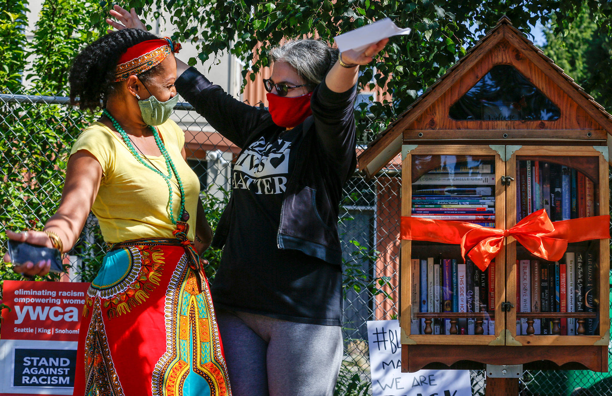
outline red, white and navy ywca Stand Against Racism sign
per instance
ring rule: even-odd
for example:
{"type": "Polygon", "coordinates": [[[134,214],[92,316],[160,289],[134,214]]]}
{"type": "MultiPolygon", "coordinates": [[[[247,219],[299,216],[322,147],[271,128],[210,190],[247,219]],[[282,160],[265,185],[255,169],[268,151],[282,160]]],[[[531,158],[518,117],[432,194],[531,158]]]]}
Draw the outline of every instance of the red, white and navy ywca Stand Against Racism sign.
{"type": "Polygon", "coordinates": [[[72,395],[89,283],[4,281],[0,396],[72,395]]]}

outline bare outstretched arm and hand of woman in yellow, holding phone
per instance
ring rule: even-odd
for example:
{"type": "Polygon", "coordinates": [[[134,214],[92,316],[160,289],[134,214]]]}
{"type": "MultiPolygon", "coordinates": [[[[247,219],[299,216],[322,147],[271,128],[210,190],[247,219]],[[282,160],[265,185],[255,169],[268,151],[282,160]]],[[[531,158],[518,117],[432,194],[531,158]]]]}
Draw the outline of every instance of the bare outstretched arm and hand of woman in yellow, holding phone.
{"type": "MultiPolygon", "coordinates": [[[[81,234],[95,196],[98,194],[101,179],[102,166],[88,151],[81,150],[70,156],[62,199],[58,210],[45,223],[44,228],[45,231],[53,231],[59,236],[64,245],[62,253],[68,252],[81,234]]],[[[44,231],[14,233],[7,230],[6,234],[14,241],[53,247],[51,239],[44,231]]],[[[4,262],[10,262],[8,255],[4,255],[4,262]]],[[[49,264],[48,261],[24,263],[15,266],[13,270],[26,275],[45,275],[49,272],[49,264]]]]}

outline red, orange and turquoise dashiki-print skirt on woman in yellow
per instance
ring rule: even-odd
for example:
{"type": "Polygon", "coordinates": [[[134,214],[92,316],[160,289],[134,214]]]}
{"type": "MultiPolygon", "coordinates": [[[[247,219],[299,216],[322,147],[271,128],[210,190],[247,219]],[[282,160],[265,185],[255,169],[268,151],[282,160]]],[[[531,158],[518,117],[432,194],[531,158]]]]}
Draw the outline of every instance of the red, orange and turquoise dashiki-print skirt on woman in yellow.
{"type": "Polygon", "coordinates": [[[230,396],[208,282],[172,239],[115,245],[88,291],[74,395],[230,396]]]}

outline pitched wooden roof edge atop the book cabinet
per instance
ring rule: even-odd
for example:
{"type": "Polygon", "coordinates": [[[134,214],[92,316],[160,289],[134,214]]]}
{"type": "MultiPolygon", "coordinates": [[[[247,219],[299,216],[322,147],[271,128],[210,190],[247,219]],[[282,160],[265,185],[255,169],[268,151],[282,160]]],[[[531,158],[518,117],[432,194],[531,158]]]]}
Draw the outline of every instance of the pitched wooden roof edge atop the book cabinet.
{"type": "Polygon", "coordinates": [[[463,58],[447,70],[442,77],[420,95],[409,108],[392,122],[386,130],[381,132],[368,148],[358,157],[359,170],[364,171],[368,177],[373,176],[401,151],[402,133],[409,125],[424,113],[436,99],[441,97],[453,84],[457,83],[480,59],[489,53],[501,40],[507,40],[517,48],[526,58],[550,77],[559,88],[576,102],[580,108],[600,124],[608,132],[608,142],[612,143],[612,115],[603,106],[595,102],[591,95],[584,90],[563,69],[554,64],[540,48],[535,47],[527,37],[512,26],[505,15],[498,24],[485,34],[474,47],[470,48],[463,58]],[[559,78],[561,77],[561,78],[559,78]]]}

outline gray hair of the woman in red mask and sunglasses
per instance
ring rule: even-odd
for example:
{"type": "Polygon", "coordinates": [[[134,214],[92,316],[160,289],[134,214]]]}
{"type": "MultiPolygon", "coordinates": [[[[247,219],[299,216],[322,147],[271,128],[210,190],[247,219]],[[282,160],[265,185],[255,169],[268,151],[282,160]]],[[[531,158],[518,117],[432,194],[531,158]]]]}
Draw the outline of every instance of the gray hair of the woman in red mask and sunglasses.
{"type": "Polygon", "coordinates": [[[272,62],[287,62],[313,87],[323,81],[337,59],[338,49],[330,48],[323,40],[293,40],[270,50],[272,62]]]}

